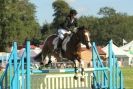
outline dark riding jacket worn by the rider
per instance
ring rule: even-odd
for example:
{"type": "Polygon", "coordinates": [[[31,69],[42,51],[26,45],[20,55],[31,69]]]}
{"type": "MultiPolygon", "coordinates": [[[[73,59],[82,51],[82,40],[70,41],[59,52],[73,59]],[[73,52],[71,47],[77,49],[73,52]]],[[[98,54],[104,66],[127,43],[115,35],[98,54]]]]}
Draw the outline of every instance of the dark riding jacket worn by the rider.
{"type": "Polygon", "coordinates": [[[77,19],[76,18],[71,19],[71,17],[68,15],[66,17],[65,22],[62,25],[62,28],[66,30],[71,30],[75,27],[78,27],[77,19]]]}

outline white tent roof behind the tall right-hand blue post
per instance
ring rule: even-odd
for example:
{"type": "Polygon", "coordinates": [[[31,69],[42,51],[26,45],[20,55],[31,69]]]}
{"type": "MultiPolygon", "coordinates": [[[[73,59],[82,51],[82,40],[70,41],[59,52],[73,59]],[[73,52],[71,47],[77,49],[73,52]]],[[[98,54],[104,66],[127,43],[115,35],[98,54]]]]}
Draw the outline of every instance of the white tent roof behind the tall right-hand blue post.
{"type": "MultiPolygon", "coordinates": [[[[108,45],[105,46],[104,48],[102,48],[102,50],[107,54],[108,56],[108,45]]],[[[130,54],[126,53],[125,51],[123,51],[122,49],[120,49],[119,47],[117,47],[116,45],[112,44],[112,50],[114,52],[114,54],[116,56],[127,56],[130,57],[130,54]]]]}

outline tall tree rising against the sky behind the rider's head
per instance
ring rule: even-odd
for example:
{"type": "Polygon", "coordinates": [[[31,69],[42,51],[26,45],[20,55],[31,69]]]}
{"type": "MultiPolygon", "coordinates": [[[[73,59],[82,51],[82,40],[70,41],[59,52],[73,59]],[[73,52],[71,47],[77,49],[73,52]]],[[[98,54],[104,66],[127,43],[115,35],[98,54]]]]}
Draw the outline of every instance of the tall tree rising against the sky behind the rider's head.
{"type": "Polygon", "coordinates": [[[68,15],[70,6],[64,0],[56,0],[52,6],[54,9],[53,26],[58,28],[64,22],[66,15],[68,15]]]}

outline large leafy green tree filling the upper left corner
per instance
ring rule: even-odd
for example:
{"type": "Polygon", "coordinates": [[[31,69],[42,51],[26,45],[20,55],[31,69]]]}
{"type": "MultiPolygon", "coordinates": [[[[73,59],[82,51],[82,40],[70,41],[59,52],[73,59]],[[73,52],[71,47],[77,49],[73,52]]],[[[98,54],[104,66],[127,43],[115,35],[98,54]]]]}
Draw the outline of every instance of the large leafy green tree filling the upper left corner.
{"type": "Polygon", "coordinates": [[[5,50],[13,41],[23,44],[26,38],[39,37],[33,4],[28,0],[3,0],[0,4],[1,50],[5,50]]]}

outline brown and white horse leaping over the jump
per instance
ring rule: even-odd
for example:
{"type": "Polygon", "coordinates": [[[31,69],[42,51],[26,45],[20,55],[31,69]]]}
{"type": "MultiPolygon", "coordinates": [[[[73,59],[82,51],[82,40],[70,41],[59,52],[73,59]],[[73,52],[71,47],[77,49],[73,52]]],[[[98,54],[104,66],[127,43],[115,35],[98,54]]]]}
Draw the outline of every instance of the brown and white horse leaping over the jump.
{"type": "MultiPolygon", "coordinates": [[[[90,34],[89,30],[87,30],[85,27],[79,27],[75,31],[73,31],[70,35],[65,36],[63,42],[62,42],[62,51],[60,53],[55,52],[55,49],[57,47],[58,42],[58,35],[53,34],[49,36],[42,48],[42,52],[36,56],[35,60],[38,60],[38,57],[42,57],[41,63],[43,64],[46,56],[53,55],[57,61],[61,61],[62,58],[67,58],[68,60],[71,60],[74,63],[74,79],[77,79],[78,74],[78,64],[81,68],[81,81],[84,81],[84,62],[81,59],[80,55],[80,44],[84,44],[87,49],[90,49],[91,43],[90,43],[90,34]]],[[[50,63],[50,62],[49,62],[50,63]]]]}

